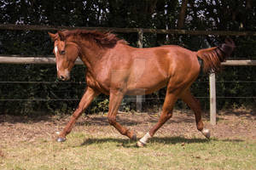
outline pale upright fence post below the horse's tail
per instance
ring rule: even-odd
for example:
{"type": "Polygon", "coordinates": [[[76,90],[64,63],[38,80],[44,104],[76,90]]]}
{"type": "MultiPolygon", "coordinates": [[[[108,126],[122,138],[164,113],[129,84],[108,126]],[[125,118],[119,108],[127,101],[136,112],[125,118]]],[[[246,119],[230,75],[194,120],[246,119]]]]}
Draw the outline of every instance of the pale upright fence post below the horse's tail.
{"type": "Polygon", "coordinates": [[[215,73],[210,74],[210,122],[216,125],[216,79],[215,73]]]}

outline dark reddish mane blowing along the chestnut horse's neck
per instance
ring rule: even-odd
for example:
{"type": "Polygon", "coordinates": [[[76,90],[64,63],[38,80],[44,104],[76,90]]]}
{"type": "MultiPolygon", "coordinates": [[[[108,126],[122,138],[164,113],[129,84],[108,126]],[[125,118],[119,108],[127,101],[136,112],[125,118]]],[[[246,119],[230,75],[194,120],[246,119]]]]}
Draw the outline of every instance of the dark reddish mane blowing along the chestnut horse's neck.
{"type": "Polygon", "coordinates": [[[87,41],[94,41],[102,47],[113,47],[117,42],[128,44],[123,39],[119,39],[115,34],[110,31],[88,31],[88,30],[72,30],[72,31],[63,31],[65,37],[73,37],[75,39],[84,39],[87,41]]]}

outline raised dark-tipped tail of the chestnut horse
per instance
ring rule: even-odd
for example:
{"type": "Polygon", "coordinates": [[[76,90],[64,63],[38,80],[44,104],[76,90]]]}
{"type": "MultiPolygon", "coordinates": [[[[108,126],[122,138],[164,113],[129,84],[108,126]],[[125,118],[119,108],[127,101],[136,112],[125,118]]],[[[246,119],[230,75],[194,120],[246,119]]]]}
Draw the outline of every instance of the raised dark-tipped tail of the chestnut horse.
{"type": "Polygon", "coordinates": [[[218,47],[197,51],[197,57],[203,60],[203,71],[205,73],[220,71],[221,62],[224,62],[226,57],[230,57],[235,47],[233,40],[227,38],[225,42],[218,47]]]}

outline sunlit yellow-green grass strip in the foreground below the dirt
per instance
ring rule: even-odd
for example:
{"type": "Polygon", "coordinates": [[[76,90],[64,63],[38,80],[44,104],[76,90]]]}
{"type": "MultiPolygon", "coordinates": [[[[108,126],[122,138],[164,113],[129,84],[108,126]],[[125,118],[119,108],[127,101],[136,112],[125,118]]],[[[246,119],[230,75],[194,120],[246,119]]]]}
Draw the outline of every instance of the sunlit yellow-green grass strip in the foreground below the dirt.
{"type": "Polygon", "coordinates": [[[253,140],[151,139],[144,148],[111,135],[71,133],[67,142],[1,144],[0,169],[256,169],[253,140]]]}

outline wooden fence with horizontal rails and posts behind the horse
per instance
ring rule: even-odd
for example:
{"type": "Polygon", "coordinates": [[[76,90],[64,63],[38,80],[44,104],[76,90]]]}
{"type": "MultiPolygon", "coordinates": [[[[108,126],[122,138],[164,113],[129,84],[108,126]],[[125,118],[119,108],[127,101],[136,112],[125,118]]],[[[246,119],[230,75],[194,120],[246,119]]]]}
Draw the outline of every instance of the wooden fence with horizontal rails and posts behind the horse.
{"type": "MultiPolygon", "coordinates": [[[[122,33],[137,32],[139,48],[143,48],[143,32],[157,34],[179,34],[179,35],[218,35],[218,36],[256,36],[256,31],[188,31],[188,30],[164,30],[164,29],[143,29],[143,28],[107,28],[107,27],[70,27],[70,26],[32,26],[32,25],[4,25],[0,24],[0,30],[31,30],[31,31],[58,31],[58,30],[87,29],[99,31],[113,31],[122,33]]],[[[2,55],[0,63],[5,64],[55,64],[55,58],[31,57],[20,55],[2,55]]],[[[83,65],[80,59],[76,60],[77,65],[83,65]]],[[[256,60],[227,60],[222,65],[256,65],[256,60]]],[[[216,80],[215,74],[210,75],[210,122],[216,125],[216,80]]],[[[137,111],[142,110],[143,97],[137,96],[137,111]]]]}

